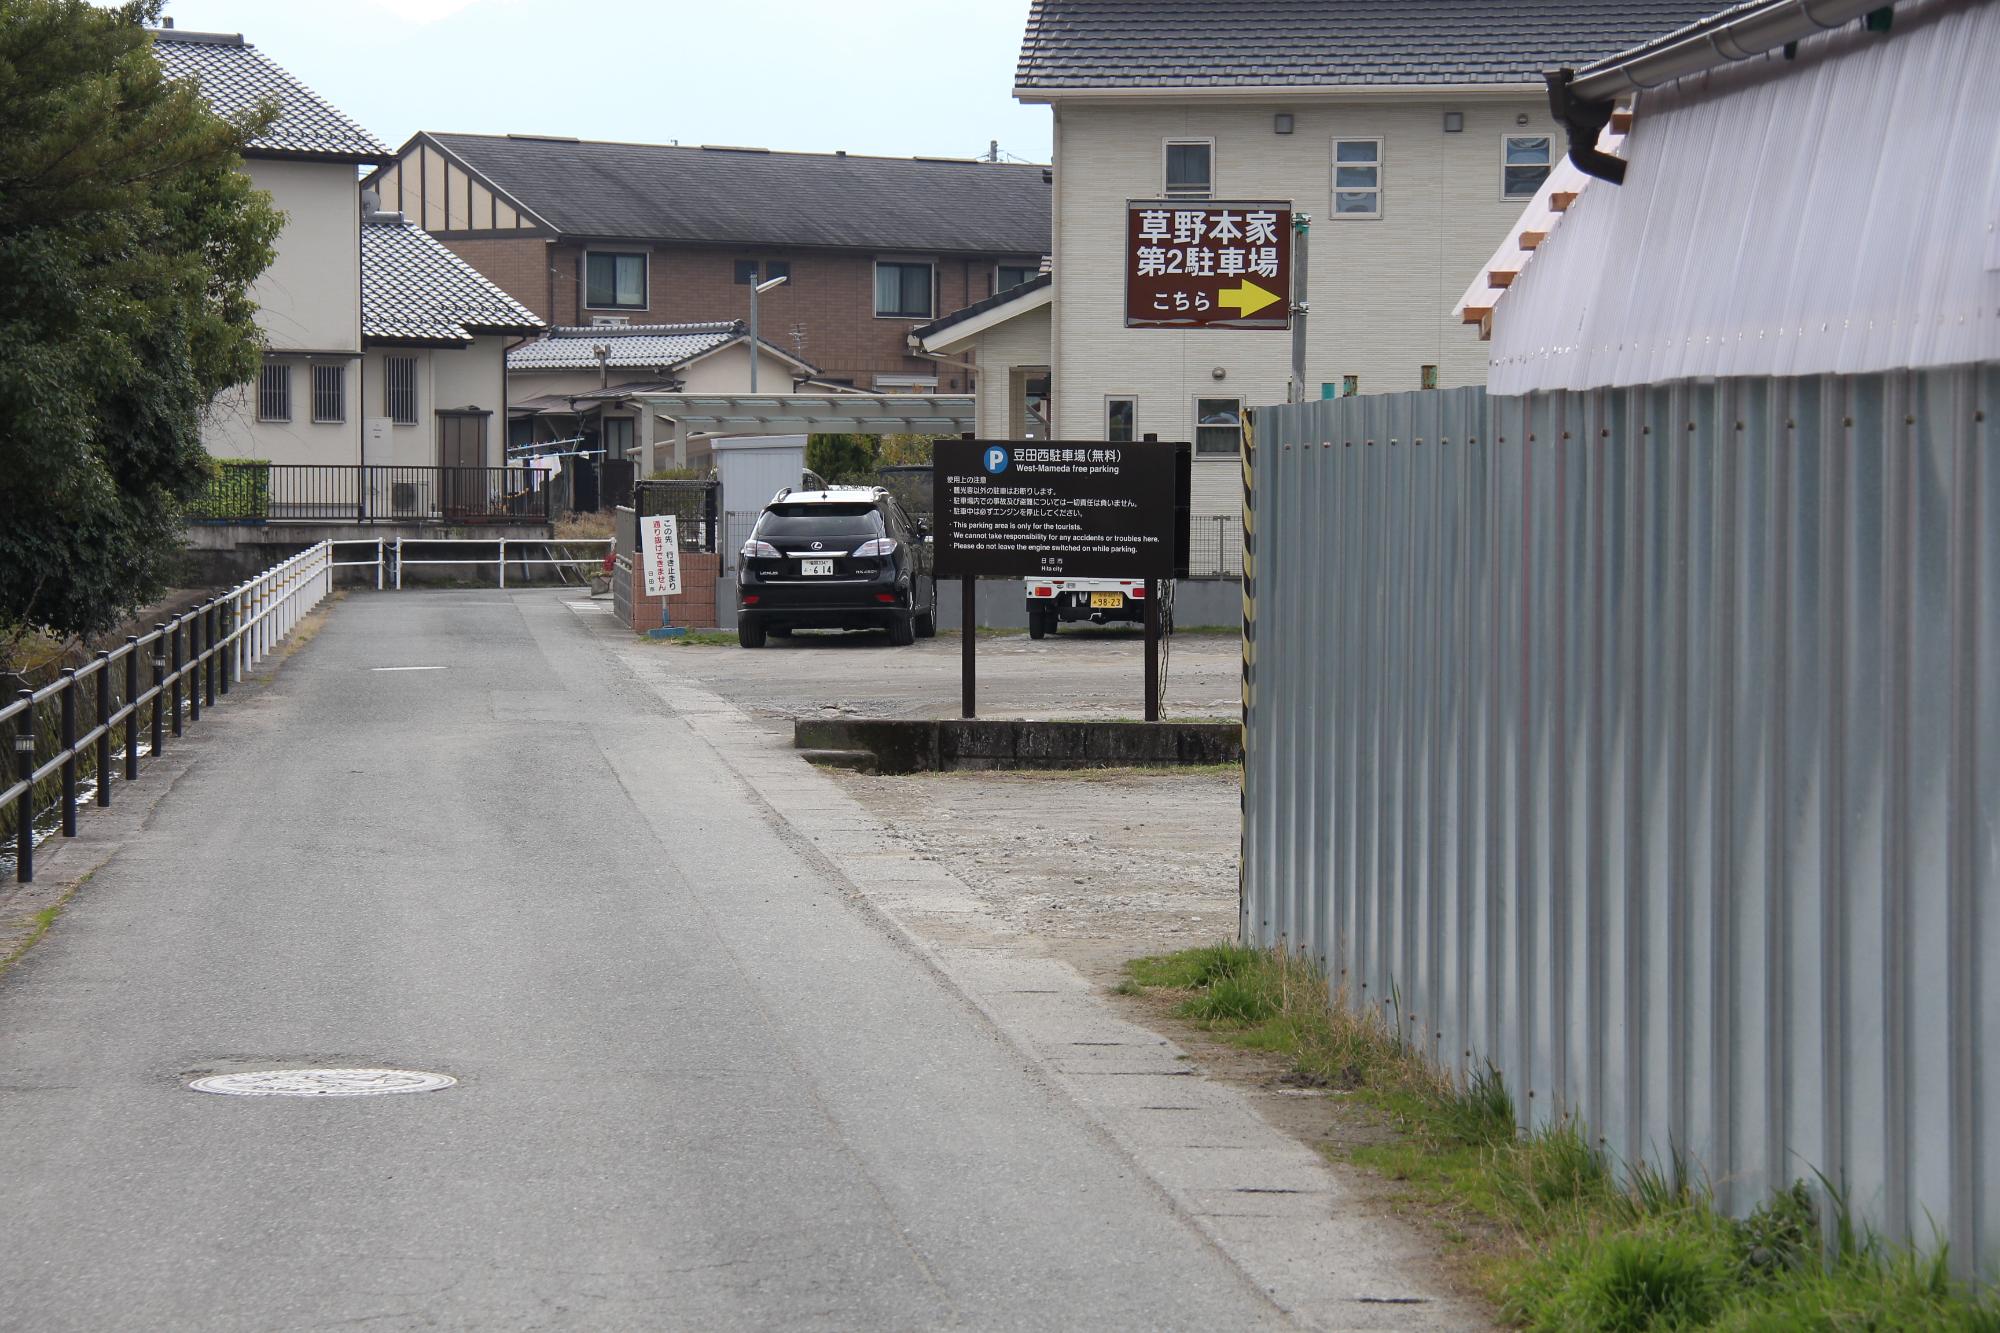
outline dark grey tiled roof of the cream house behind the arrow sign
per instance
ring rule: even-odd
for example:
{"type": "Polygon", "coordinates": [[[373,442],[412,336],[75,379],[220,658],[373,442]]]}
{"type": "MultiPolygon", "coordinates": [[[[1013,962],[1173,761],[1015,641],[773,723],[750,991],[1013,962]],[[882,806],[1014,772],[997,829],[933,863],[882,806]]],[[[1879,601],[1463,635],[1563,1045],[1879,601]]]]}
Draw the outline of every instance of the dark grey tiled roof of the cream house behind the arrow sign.
{"type": "Polygon", "coordinates": [[[1034,0],[1014,86],[1538,84],[1718,0],[1034,0]]]}

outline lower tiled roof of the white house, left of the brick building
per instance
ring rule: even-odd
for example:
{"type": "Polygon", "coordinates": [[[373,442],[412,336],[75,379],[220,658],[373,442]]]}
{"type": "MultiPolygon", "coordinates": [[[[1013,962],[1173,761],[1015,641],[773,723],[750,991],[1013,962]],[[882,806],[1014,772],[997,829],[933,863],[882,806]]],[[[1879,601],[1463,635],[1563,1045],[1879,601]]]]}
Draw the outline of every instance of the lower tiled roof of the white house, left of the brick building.
{"type": "Polygon", "coordinates": [[[362,222],[362,336],[464,346],[542,320],[398,214],[362,222]]]}

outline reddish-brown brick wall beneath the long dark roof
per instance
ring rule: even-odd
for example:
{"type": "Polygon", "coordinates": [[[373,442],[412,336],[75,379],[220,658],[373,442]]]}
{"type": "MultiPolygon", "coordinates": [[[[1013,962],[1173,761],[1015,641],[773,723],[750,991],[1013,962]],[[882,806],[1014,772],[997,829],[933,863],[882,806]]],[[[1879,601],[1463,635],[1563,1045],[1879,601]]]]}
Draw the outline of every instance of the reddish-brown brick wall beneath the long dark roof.
{"type": "MultiPolygon", "coordinates": [[[[582,254],[576,242],[542,238],[454,238],[446,244],[518,302],[554,324],[588,324],[582,302],[582,254]],[[554,288],[554,302],[550,300],[554,288]]],[[[604,246],[612,248],[612,246],[604,246]]],[[[968,392],[958,366],[910,356],[906,336],[924,320],[884,320],[874,314],[874,256],[798,250],[672,248],[654,250],[644,310],[616,310],[634,324],[748,320],[750,288],[736,282],[738,258],[782,258],[792,280],[758,298],[758,332],[830,378],[868,388],[878,374],[936,374],[940,392],[968,392]],[[792,336],[802,326],[804,342],[792,336]]],[[[1030,256],[938,258],[938,314],[950,314],[992,294],[994,264],[1036,264],[1030,256]]]]}

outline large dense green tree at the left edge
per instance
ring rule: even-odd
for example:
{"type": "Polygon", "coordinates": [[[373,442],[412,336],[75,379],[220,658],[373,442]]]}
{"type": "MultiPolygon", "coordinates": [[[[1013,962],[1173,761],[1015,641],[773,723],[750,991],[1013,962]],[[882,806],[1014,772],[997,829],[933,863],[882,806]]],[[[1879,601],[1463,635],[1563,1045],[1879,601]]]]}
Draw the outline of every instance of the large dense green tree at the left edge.
{"type": "Polygon", "coordinates": [[[0,0],[0,656],[166,586],[202,410],[260,362],[284,218],[242,146],[276,108],[224,122],[164,78],[158,14],[0,0]]]}

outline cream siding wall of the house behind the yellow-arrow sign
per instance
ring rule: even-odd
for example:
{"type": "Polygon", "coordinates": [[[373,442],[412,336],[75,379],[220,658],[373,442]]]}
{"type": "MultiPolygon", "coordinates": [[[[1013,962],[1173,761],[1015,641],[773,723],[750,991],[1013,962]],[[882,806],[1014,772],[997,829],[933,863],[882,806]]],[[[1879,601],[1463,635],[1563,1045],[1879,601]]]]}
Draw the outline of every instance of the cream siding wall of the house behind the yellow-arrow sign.
{"type": "MultiPolygon", "coordinates": [[[[1136,396],[1136,430],[1164,440],[1192,438],[1196,396],[1284,400],[1290,332],[1124,326],[1126,200],[1162,194],[1166,138],[1214,138],[1216,198],[1280,198],[1312,214],[1306,378],[1318,396],[1344,374],[1364,394],[1418,388],[1424,364],[1440,386],[1484,382],[1486,348],[1452,304],[1522,208],[1500,194],[1502,136],[1544,132],[1548,106],[1532,98],[1058,104],[1056,436],[1102,438],[1106,394],[1136,396]],[[1292,134],[1272,132],[1280,110],[1292,134]],[[1444,132],[1446,110],[1464,114],[1462,132],[1444,132]],[[1334,218],[1336,136],[1384,140],[1380,220],[1334,218]]],[[[1198,462],[1196,510],[1236,508],[1238,464],[1198,462]]]]}

